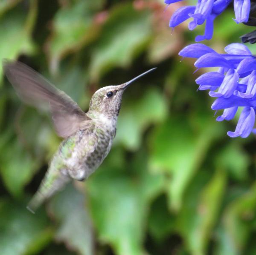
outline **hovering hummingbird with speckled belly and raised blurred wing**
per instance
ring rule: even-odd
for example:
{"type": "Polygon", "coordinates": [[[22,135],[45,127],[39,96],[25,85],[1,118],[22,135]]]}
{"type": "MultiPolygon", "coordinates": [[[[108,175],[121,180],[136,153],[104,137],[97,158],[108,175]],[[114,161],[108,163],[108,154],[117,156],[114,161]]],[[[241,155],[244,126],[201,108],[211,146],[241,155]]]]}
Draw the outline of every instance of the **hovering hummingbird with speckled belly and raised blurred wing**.
{"type": "Polygon", "coordinates": [[[55,131],[64,138],[27,209],[32,213],[72,179],[84,181],[108,155],[116,135],[116,121],[125,89],[145,74],[116,86],[97,90],[85,113],[78,104],[41,74],[19,62],[4,60],[3,71],[25,103],[48,106],[55,131]]]}

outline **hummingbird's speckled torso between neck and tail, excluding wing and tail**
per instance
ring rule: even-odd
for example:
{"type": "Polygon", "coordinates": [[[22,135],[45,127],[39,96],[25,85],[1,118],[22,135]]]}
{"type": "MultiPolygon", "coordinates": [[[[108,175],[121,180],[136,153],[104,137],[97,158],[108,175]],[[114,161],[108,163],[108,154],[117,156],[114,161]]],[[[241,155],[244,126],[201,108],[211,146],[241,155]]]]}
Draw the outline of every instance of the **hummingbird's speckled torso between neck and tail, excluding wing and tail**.
{"type": "Polygon", "coordinates": [[[99,167],[116,135],[115,120],[109,124],[91,120],[89,125],[88,129],[79,130],[65,139],[52,160],[53,164],[58,164],[61,158],[68,175],[78,181],[84,181],[99,167]]]}

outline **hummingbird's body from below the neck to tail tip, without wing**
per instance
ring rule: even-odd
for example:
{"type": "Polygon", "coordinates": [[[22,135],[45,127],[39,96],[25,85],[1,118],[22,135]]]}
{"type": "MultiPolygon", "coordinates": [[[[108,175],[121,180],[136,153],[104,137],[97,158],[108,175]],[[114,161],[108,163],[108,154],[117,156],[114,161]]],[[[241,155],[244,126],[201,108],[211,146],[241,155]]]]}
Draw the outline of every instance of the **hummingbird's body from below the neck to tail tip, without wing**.
{"type": "Polygon", "coordinates": [[[108,155],[116,134],[116,121],[111,125],[91,121],[87,130],[66,138],[53,155],[47,174],[29,203],[34,211],[41,201],[61,189],[72,178],[84,181],[108,155]]]}

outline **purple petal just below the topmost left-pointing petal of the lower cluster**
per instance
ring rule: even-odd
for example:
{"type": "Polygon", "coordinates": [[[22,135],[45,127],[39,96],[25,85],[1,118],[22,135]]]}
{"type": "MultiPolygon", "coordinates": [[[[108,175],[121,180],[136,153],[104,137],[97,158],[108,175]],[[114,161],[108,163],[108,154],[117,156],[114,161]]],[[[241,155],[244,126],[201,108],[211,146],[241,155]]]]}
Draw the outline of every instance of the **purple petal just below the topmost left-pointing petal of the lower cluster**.
{"type": "Polygon", "coordinates": [[[195,62],[195,66],[197,68],[202,67],[227,67],[227,68],[234,68],[233,64],[229,61],[225,60],[218,53],[207,53],[203,56],[199,57],[198,60],[195,62]]]}

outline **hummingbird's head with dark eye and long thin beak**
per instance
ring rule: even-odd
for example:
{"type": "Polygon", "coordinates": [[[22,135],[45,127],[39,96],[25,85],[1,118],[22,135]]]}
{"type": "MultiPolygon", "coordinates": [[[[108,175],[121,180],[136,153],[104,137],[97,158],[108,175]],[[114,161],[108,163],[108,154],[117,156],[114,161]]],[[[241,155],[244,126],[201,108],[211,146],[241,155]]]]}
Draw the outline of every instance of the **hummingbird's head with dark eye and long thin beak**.
{"type": "Polygon", "coordinates": [[[106,86],[97,90],[90,100],[89,112],[102,113],[108,118],[117,117],[119,115],[119,110],[121,106],[122,94],[125,89],[134,80],[137,80],[139,77],[153,71],[154,69],[155,68],[150,69],[147,72],[144,72],[143,74],[140,74],[134,79],[121,85],[106,86]]]}

